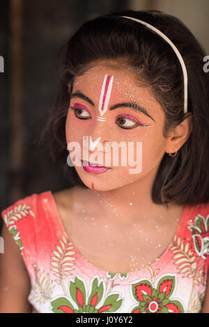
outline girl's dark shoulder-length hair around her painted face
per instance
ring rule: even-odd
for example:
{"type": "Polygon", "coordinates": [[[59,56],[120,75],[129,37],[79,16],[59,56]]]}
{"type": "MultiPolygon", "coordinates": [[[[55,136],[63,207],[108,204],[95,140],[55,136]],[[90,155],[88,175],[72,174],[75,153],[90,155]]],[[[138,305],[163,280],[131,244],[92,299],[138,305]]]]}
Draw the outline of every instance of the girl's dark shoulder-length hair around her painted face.
{"type": "MultiPolygon", "coordinates": [[[[65,119],[73,81],[98,59],[123,59],[137,78],[150,86],[165,115],[164,136],[186,119],[183,112],[183,70],[171,46],[146,26],[119,16],[141,19],[162,31],[183,56],[188,75],[188,113],[192,132],[176,157],[164,154],[155,182],[153,202],[196,205],[209,200],[209,74],[203,72],[206,55],[179,19],[158,10],[111,12],[85,22],[59,53],[59,90],[45,131],[50,131],[52,156],[61,161],[73,184],[86,187],[74,167],[66,163],[65,119]],[[68,90],[68,84],[71,90],[68,90]]],[[[44,134],[45,134],[44,131],[44,134]]]]}

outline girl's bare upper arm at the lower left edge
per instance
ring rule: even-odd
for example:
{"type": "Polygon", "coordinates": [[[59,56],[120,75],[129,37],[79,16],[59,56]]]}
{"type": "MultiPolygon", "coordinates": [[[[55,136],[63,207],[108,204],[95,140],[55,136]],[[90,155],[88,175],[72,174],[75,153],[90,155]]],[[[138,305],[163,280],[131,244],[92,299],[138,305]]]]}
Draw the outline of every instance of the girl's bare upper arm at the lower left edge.
{"type": "Polygon", "coordinates": [[[15,240],[3,224],[4,253],[0,254],[0,312],[31,312],[29,273],[15,240]],[[2,296],[3,295],[3,296],[2,296]]]}

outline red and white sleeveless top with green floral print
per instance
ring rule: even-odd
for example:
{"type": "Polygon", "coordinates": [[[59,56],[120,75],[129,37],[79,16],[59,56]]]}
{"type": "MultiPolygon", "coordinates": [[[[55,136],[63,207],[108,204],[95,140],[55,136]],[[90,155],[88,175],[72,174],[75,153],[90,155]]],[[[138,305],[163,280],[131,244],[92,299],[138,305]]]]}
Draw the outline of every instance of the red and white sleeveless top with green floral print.
{"type": "Polygon", "coordinates": [[[186,205],[167,249],[152,264],[111,273],[68,239],[51,191],[1,212],[31,280],[33,312],[201,312],[209,270],[209,202],[186,205]]]}

